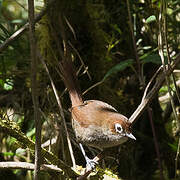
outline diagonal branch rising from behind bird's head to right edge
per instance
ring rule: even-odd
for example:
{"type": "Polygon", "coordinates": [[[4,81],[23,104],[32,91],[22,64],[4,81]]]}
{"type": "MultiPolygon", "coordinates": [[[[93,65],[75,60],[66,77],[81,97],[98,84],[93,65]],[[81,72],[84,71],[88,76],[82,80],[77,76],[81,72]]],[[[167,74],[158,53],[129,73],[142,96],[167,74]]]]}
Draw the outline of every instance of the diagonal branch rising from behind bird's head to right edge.
{"type": "MultiPolygon", "coordinates": [[[[171,63],[170,68],[167,69],[166,75],[169,76],[176,66],[180,63],[180,53],[177,55],[176,59],[171,63]]],[[[161,88],[163,82],[165,80],[164,72],[159,72],[159,75],[156,78],[156,83],[154,84],[153,88],[147,93],[146,97],[143,98],[138,108],[134,111],[134,113],[129,118],[131,123],[134,123],[144,112],[147,105],[153,100],[155,95],[158,93],[159,89],[161,88]]]]}

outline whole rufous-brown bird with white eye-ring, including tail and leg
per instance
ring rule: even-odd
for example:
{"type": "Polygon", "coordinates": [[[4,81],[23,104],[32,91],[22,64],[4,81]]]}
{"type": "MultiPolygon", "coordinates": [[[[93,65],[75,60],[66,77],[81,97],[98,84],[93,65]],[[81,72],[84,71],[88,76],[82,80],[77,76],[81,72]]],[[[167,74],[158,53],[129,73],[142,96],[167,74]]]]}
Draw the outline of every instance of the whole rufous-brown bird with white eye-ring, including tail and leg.
{"type": "Polygon", "coordinates": [[[118,113],[111,105],[100,100],[83,100],[73,63],[66,59],[60,62],[60,71],[71,99],[71,119],[77,142],[89,169],[96,162],[89,159],[83,145],[100,150],[118,146],[129,138],[136,140],[132,134],[128,118],[118,113]],[[83,144],[83,145],[82,145],[83,144]]]}

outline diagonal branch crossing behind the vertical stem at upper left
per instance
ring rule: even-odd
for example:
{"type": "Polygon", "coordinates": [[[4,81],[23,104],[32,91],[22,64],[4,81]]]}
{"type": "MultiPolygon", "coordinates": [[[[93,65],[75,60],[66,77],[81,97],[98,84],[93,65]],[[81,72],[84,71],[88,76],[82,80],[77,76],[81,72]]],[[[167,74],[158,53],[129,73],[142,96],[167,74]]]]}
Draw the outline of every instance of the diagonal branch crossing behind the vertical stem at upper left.
{"type": "MultiPolygon", "coordinates": [[[[38,21],[41,20],[41,18],[46,14],[48,9],[53,5],[53,3],[56,0],[50,0],[48,3],[45,5],[45,8],[38,14],[36,15],[34,22],[37,23],[38,21]]],[[[16,40],[18,37],[20,37],[27,29],[29,28],[29,23],[27,22],[24,26],[22,26],[19,30],[17,30],[15,33],[13,33],[8,39],[4,41],[0,45],[0,53],[4,51],[14,40],[16,40]]]]}

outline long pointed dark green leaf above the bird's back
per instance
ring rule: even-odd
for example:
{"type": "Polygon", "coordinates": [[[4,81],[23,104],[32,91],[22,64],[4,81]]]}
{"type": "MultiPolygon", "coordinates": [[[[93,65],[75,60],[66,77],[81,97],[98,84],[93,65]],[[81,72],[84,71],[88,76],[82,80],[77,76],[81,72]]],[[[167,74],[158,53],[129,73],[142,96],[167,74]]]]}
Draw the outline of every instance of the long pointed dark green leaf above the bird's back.
{"type": "Polygon", "coordinates": [[[104,76],[103,81],[105,79],[107,79],[109,76],[111,76],[112,74],[116,74],[120,71],[123,71],[124,69],[126,69],[127,67],[130,67],[133,64],[133,59],[128,59],[125,60],[123,62],[120,62],[119,64],[115,65],[114,67],[112,67],[104,76]]]}

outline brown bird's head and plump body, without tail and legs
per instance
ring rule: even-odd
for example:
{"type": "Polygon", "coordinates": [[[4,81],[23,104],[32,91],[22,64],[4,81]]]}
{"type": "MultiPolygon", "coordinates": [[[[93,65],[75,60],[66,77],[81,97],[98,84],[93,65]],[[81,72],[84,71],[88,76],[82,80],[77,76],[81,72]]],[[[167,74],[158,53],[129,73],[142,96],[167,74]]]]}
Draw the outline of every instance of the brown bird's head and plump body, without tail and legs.
{"type": "Polygon", "coordinates": [[[104,149],[135,139],[128,119],[105,102],[84,101],[72,106],[71,115],[76,138],[83,144],[104,149]]]}

